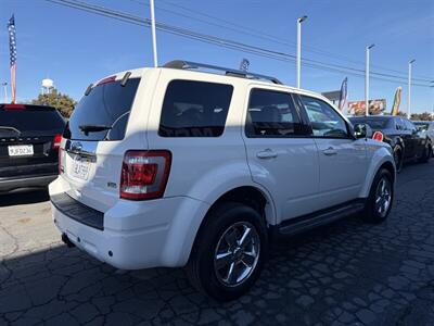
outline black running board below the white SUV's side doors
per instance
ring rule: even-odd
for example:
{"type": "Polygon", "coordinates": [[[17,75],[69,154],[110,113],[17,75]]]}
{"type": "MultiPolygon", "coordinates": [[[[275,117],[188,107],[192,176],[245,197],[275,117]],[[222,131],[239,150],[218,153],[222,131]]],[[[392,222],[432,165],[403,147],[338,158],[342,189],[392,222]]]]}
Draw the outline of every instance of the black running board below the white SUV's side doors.
{"type": "Polygon", "coordinates": [[[294,236],[303,231],[327,225],[337,220],[347,217],[362,211],[365,201],[357,200],[347,202],[331,209],[321,210],[299,217],[291,218],[280,225],[271,227],[272,236],[294,236]]]}

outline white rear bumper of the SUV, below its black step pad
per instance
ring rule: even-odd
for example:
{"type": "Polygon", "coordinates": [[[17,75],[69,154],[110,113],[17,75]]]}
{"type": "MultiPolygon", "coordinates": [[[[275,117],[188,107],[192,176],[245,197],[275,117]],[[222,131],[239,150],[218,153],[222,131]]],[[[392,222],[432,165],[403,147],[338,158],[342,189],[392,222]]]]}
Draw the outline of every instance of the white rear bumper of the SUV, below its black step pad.
{"type": "MultiPolygon", "coordinates": [[[[61,192],[50,185],[50,197],[61,192]]],[[[118,202],[103,214],[103,229],[72,218],[52,204],[62,234],[80,250],[122,269],[183,266],[209,205],[188,197],[118,202]]]]}

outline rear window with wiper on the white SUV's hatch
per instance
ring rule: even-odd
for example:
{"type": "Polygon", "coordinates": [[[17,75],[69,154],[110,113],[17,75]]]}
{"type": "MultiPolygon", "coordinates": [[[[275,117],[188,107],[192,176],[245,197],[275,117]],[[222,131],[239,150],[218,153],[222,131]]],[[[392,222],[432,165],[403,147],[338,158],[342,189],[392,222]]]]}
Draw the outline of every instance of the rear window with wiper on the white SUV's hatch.
{"type": "Polygon", "coordinates": [[[77,140],[122,140],[140,78],[95,86],[75,108],[64,138],[77,140]]]}

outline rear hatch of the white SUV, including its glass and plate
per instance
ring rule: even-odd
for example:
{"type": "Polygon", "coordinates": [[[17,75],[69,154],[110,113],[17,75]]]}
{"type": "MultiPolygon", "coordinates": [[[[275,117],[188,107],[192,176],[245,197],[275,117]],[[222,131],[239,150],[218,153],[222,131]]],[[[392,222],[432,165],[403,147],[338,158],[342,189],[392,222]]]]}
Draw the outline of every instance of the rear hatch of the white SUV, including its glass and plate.
{"type": "MultiPolygon", "coordinates": [[[[63,134],[60,170],[68,185],[66,193],[101,212],[119,199],[127,143],[130,138],[140,138],[127,135],[127,126],[131,108],[139,98],[136,93],[141,78],[138,73],[128,76],[119,74],[90,86],[63,134]]],[[[141,137],[137,146],[145,147],[141,137]]]]}

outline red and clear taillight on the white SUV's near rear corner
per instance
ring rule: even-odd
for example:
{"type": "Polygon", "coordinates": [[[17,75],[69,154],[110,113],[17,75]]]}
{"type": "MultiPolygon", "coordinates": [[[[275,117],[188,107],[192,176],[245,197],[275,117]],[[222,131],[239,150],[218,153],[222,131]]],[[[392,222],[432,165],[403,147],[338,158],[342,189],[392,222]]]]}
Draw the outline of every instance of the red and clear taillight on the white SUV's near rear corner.
{"type": "Polygon", "coordinates": [[[169,151],[127,151],[122,167],[120,198],[143,200],[163,197],[170,163],[169,151]]]}

